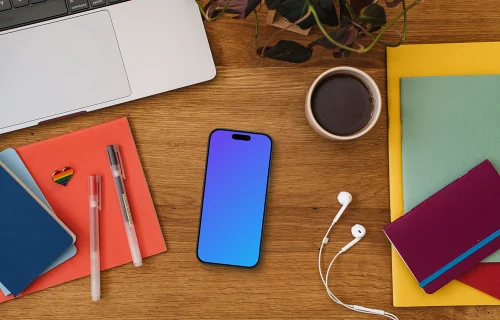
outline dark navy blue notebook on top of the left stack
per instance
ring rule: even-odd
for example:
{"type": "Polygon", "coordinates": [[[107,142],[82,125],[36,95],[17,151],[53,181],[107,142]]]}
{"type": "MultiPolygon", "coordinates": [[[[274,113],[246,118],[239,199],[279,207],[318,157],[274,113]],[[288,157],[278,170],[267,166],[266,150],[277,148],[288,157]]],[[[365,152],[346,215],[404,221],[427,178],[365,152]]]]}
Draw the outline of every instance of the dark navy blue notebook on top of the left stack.
{"type": "Polygon", "coordinates": [[[75,235],[0,161],[0,281],[19,295],[75,235]]]}

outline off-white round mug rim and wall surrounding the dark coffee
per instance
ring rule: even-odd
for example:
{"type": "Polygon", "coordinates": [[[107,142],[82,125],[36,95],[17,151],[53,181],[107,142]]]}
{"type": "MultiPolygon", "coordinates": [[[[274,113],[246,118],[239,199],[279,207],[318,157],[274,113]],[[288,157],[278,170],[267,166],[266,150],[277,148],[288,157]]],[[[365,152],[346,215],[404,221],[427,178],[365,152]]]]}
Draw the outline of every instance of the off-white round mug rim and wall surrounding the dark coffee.
{"type": "Polygon", "coordinates": [[[377,123],[377,120],[380,117],[381,109],[382,109],[382,97],[380,96],[380,90],[379,90],[377,84],[375,83],[375,81],[373,81],[373,79],[369,75],[364,73],[363,71],[356,69],[356,68],[351,68],[351,67],[337,67],[337,68],[333,68],[333,69],[330,69],[330,70],[323,72],[323,74],[321,74],[318,78],[316,78],[316,80],[311,85],[311,88],[309,89],[309,93],[307,94],[307,100],[306,100],[306,118],[307,118],[307,121],[309,122],[309,125],[319,135],[321,135],[327,139],[331,139],[331,140],[353,140],[353,139],[359,138],[362,135],[366,134],[368,131],[370,131],[373,128],[375,123],[377,123]],[[358,131],[352,135],[348,135],[348,136],[338,136],[338,135],[335,135],[333,133],[326,131],[316,121],[316,119],[314,118],[314,114],[312,112],[311,99],[312,99],[312,95],[314,93],[314,90],[316,89],[318,84],[323,79],[330,77],[332,75],[335,75],[335,74],[349,75],[349,76],[352,76],[352,77],[358,79],[359,81],[361,81],[361,83],[363,83],[365,85],[365,87],[368,89],[368,91],[370,91],[370,94],[372,95],[373,112],[372,112],[372,115],[370,117],[370,120],[363,127],[363,129],[361,129],[360,131],[358,131]]]}

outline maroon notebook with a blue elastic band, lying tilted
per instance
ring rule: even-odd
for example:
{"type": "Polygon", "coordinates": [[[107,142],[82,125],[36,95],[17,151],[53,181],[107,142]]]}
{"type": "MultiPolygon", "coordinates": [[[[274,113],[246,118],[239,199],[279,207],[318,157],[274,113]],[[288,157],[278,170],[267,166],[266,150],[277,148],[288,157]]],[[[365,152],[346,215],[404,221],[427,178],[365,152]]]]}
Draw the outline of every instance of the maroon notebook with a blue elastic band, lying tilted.
{"type": "Polygon", "coordinates": [[[500,176],[486,160],[384,228],[434,293],[500,248],[500,176]]]}

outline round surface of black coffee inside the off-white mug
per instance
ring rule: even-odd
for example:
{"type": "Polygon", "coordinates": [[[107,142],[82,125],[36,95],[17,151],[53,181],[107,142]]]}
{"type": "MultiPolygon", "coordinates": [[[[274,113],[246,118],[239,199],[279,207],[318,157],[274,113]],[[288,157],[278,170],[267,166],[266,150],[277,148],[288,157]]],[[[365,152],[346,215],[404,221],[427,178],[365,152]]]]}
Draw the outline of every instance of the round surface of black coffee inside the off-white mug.
{"type": "Polygon", "coordinates": [[[357,78],[333,74],[321,80],[311,97],[311,109],[318,124],[337,136],[360,132],[373,113],[373,97],[357,78]]]}

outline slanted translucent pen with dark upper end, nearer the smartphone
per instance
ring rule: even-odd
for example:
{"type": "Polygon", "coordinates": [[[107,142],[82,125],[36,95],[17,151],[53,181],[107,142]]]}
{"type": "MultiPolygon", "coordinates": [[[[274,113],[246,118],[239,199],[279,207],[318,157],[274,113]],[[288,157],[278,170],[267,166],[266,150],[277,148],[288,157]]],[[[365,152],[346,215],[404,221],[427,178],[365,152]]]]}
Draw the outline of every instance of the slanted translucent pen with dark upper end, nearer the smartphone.
{"type": "Polygon", "coordinates": [[[125,225],[125,232],[127,233],[128,245],[130,247],[130,254],[135,267],[142,266],[141,250],[137,241],[137,234],[135,233],[134,220],[132,219],[132,212],[128,203],[127,191],[125,190],[125,171],[123,168],[122,156],[120,148],[117,145],[111,145],[106,148],[108,153],[109,165],[111,166],[111,174],[115,180],[116,194],[118,195],[118,202],[122,211],[123,222],[125,225]]]}

